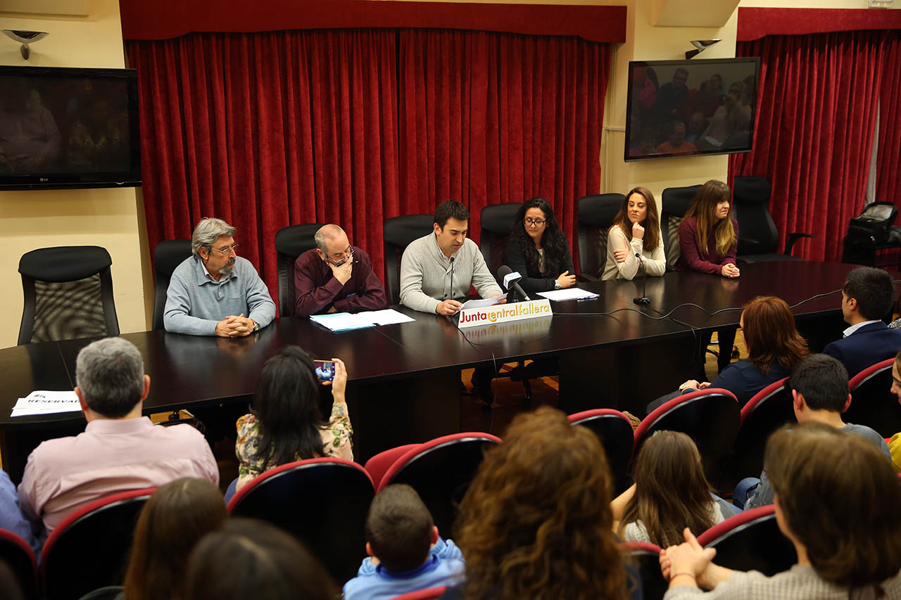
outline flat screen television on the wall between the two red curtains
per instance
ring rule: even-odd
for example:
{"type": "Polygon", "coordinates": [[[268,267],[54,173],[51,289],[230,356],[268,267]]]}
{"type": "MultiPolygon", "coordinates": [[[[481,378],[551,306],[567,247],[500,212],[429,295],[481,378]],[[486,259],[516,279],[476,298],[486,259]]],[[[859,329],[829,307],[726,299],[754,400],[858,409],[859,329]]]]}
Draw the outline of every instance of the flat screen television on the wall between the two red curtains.
{"type": "Polygon", "coordinates": [[[760,59],[629,63],[625,160],[751,150],[760,59]]]}

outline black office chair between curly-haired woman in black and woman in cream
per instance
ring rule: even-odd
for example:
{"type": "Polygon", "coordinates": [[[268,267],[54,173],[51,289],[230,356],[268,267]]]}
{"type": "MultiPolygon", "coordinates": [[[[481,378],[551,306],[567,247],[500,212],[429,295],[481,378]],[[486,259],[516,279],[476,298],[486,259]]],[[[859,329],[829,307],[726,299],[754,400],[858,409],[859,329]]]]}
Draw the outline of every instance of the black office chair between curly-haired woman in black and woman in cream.
{"type": "Polygon", "coordinates": [[[622,194],[583,195],[578,199],[578,272],[589,281],[597,281],[604,274],[607,232],[613,226],[623,200],[622,194]]]}

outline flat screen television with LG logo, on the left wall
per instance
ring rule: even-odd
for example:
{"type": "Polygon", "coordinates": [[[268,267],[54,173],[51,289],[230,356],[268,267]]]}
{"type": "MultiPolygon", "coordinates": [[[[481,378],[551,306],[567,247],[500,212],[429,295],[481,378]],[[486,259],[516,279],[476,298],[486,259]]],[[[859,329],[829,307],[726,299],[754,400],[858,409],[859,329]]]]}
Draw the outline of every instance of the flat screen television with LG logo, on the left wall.
{"type": "Polygon", "coordinates": [[[0,190],[140,185],[136,71],[0,67],[0,190]]]}

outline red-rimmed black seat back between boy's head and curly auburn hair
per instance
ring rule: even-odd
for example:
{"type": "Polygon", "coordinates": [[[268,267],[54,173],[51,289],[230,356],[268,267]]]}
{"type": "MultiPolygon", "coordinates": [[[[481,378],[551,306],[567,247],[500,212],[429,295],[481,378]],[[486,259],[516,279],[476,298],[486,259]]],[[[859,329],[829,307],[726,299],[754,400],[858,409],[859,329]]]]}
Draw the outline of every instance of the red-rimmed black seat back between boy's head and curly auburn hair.
{"type": "Polygon", "coordinates": [[[426,441],[407,450],[388,468],[378,490],[396,483],[413,486],[439,531],[447,535],[485,450],[500,442],[496,435],[484,432],[454,433],[426,441]]]}

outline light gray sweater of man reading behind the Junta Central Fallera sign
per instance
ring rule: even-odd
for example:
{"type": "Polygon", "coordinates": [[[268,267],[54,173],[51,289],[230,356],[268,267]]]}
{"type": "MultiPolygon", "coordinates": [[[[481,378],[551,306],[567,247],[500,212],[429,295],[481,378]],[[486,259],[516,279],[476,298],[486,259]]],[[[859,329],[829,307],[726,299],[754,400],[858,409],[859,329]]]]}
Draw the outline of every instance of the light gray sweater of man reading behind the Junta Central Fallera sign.
{"type": "Polygon", "coordinates": [[[470,285],[483,298],[503,294],[475,241],[463,241],[453,260],[441,252],[434,232],[414,240],[404,250],[400,262],[400,304],[414,311],[434,313],[444,300],[463,301],[470,285]]]}

